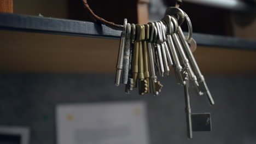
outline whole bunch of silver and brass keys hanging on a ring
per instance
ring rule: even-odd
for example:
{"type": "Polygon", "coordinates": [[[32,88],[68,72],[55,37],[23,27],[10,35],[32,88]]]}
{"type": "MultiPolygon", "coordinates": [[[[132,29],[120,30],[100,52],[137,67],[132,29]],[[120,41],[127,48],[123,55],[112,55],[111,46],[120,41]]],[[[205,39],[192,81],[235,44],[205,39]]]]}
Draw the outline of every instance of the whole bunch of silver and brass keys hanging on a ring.
{"type": "Polygon", "coordinates": [[[192,131],[211,131],[210,113],[191,113],[189,81],[199,95],[207,96],[211,105],[214,105],[214,100],[191,52],[191,49],[196,49],[196,42],[191,37],[192,25],[188,15],[179,8],[170,7],[160,21],[135,25],[125,19],[123,27],[115,85],[125,84],[126,93],[138,87],[141,95],[150,92],[159,95],[163,85],[158,76],[168,76],[173,68],[177,83],[184,87],[188,138],[192,139],[192,131]],[[180,27],[184,21],[189,26],[187,37],[180,27]]]}

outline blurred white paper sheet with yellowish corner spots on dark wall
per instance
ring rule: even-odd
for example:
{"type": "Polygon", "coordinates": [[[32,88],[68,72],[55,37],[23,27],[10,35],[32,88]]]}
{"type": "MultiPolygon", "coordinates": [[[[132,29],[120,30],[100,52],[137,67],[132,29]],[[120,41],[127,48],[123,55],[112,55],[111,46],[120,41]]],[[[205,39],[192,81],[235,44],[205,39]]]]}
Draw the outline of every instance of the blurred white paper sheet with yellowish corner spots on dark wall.
{"type": "Polygon", "coordinates": [[[58,144],[148,144],[142,101],[56,107],[58,144]]]}

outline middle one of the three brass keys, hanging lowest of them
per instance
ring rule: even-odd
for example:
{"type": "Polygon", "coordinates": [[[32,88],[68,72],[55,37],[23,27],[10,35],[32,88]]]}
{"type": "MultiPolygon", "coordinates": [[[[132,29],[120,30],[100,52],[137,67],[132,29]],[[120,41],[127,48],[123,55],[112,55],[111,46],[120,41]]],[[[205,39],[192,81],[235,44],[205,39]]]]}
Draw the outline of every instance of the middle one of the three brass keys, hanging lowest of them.
{"type": "Polygon", "coordinates": [[[138,57],[138,79],[139,79],[139,94],[143,95],[144,93],[147,93],[148,86],[147,81],[144,77],[144,63],[143,63],[143,45],[142,41],[145,40],[145,27],[142,25],[139,25],[139,27],[136,27],[141,29],[141,32],[139,34],[139,57],[138,57]]]}

